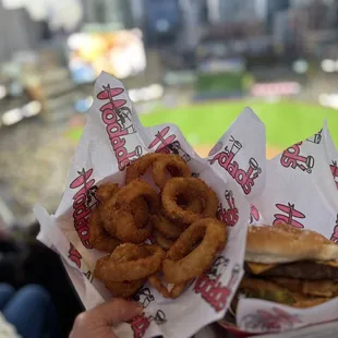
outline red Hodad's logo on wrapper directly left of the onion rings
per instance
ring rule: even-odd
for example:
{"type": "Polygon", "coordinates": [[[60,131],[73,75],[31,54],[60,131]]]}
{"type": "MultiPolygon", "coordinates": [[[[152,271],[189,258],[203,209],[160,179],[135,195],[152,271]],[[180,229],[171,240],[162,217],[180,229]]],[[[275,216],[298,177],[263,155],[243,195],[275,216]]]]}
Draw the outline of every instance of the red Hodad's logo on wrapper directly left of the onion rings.
{"type": "Polygon", "coordinates": [[[93,174],[93,169],[82,169],[77,171],[77,177],[70,184],[71,189],[77,190],[73,196],[73,219],[74,228],[79,234],[82,244],[86,249],[93,249],[89,242],[89,217],[92,209],[98,203],[96,198],[97,186],[95,185],[95,180],[90,177],[93,174]]]}

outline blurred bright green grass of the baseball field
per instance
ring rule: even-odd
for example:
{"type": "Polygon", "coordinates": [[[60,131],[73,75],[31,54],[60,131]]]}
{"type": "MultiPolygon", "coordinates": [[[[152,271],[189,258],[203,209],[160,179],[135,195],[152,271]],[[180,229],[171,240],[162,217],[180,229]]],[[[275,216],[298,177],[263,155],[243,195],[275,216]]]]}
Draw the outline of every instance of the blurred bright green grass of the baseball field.
{"type": "Polygon", "coordinates": [[[285,148],[318,131],[325,119],[338,144],[338,111],[298,101],[215,101],[168,109],[159,107],[141,120],[144,125],[173,122],[192,145],[213,145],[244,107],[251,107],[266,125],[267,144],[285,148]]]}

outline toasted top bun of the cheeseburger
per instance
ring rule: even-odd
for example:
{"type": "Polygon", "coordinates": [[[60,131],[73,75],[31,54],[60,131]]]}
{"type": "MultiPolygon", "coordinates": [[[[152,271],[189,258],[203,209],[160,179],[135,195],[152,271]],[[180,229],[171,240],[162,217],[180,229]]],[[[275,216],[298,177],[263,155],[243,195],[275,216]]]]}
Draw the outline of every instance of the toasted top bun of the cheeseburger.
{"type": "Polygon", "coordinates": [[[338,244],[322,234],[288,225],[250,226],[245,261],[263,264],[336,261],[338,244]]]}

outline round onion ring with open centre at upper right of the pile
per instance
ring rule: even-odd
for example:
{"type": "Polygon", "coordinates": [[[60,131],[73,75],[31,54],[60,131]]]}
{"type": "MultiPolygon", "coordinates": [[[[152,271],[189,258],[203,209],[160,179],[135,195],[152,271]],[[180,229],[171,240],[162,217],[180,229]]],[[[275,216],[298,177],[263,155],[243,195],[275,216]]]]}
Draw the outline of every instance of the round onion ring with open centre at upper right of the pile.
{"type": "Polygon", "coordinates": [[[215,217],[218,208],[216,193],[204,181],[196,178],[170,179],[162,190],[161,200],[167,215],[172,220],[188,225],[201,218],[215,217]],[[198,196],[203,200],[204,209],[202,214],[194,213],[191,209],[184,209],[178,205],[178,196],[184,193],[191,196],[198,196]]]}

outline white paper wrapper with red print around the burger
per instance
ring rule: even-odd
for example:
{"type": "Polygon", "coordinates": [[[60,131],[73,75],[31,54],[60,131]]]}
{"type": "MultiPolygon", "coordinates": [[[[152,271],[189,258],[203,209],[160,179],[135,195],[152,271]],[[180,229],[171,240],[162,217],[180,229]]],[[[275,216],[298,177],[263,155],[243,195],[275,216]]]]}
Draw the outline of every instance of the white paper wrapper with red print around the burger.
{"type": "MultiPolygon", "coordinates": [[[[266,161],[264,192],[252,200],[257,217],[254,222],[271,226],[287,222],[295,228],[315,230],[338,243],[337,160],[338,153],[324,123],[313,136],[266,161]]],[[[236,318],[238,334],[242,337],[311,325],[315,330],[315,324],[337,319],[338,298],[302,310],[240,299],[236,318]]]]}

